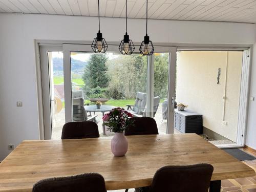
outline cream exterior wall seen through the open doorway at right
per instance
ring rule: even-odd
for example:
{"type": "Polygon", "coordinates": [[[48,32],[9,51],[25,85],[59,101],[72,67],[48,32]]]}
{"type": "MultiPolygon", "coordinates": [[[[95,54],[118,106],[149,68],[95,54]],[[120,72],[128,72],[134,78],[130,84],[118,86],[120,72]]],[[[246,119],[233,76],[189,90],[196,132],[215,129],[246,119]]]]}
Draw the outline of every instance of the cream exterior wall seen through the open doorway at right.
{"type": "Polygon", "coordinates": [[[203,114],[204,127],[234,142],[237,141],[242,58],[242,51],[180,51],[177,54],[177,102],[203,114]],[[218,68],[221,69],[219,84],[218,68]],[[223,95],[226,95],[225,103],[223,95]]]}

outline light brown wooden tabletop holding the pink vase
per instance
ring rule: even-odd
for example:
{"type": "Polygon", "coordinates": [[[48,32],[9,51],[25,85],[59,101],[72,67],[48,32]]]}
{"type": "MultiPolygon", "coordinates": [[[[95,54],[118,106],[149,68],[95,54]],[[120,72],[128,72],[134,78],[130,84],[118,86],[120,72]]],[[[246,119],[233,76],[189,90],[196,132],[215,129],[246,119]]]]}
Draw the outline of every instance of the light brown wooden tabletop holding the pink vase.
{"type": "Polygon", "coordinates": [[[111,138],[23,141],[0,163],[0,192],[32,191],[41,179],[89,172],[101,174],[107,190],[142,187],[151,185],[165,165],[210,163],[210,191],[220,191],[223,179],[255,175],[196,134],[126,136],[129,149],[123,157],[111,153],[111,138]]]}

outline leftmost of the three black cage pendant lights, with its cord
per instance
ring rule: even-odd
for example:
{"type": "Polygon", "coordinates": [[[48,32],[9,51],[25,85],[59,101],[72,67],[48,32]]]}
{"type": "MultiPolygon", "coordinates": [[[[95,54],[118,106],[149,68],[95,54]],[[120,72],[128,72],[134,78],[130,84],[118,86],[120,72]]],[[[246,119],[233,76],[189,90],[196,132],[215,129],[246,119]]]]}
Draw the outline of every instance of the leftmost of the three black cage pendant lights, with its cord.
{"type": "MultiPolygon", "coordinates": [[[[98,18],[99,18],[99,0],[98,0],[98,18]]],[[[105,53],[108,49],[108,44],[104,38],[102,38],[102,33],[100,33],[100,22],[99,22],[99,32],[97,37],[93,39],[92,49],[95,53],[105,53]]]]}

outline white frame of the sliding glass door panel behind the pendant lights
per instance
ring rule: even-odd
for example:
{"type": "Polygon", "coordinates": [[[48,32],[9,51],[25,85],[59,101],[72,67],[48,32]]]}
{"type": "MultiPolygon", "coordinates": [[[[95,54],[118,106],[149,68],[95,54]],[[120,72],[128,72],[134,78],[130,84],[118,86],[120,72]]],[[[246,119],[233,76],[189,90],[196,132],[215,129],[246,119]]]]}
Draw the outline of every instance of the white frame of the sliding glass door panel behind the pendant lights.
{"type": "MultiPolygon", "coordinates": [[[[119,52],[119,44],[110,42],[107,52],[119,52]]],[[[176,47],[155,46],[155,53],[169,53],[168,101],[175,98],[176,47]]],[[[63,69],[65,93],[65,119],[72,121],[72,87],[71,87],[71,52],[92,52],[91,44],[63,44],[63,69]]],[[[135,45],[134,53],[139,53],[139,45],[135,45]]],[[[154,98],[154,54],[148,56],[147,68],[147,116],[153,117],[154,98]]],[[[168,102],[167,134],[174,132],[174,102],[168,102]]]]}

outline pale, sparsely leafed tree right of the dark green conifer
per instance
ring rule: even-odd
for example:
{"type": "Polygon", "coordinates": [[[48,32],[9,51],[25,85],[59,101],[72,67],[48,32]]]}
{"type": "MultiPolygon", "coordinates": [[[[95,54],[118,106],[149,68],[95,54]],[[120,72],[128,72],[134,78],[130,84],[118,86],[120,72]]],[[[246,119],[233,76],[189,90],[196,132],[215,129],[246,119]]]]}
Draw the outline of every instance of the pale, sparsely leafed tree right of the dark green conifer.
{"type": "Polygon", "coordinates": [[[108,60],[111,77],[107,94],[114,99],[135,98],[137,91],[146,92],[146,57],[138,54],[120,55],[108,60]]]}

